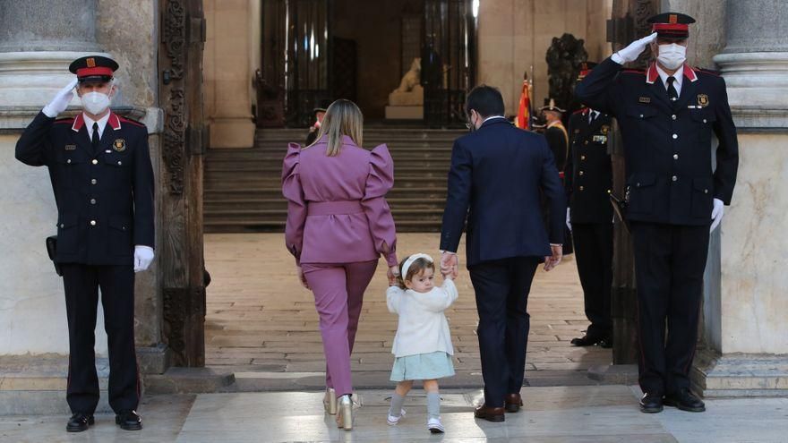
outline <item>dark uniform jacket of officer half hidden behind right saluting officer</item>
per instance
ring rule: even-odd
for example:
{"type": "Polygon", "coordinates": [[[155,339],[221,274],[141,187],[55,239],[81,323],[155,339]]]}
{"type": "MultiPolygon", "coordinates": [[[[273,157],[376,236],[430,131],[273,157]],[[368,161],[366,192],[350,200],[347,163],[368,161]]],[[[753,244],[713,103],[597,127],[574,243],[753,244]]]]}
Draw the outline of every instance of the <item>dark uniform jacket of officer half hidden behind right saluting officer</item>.
{"type": "Polygon", "coordinates": [[[583,108],[570,116],[570,155],[564,172],[564,186],[572,223],[612,223],[612,163],[607,142],[612,117],[583,108]]]}

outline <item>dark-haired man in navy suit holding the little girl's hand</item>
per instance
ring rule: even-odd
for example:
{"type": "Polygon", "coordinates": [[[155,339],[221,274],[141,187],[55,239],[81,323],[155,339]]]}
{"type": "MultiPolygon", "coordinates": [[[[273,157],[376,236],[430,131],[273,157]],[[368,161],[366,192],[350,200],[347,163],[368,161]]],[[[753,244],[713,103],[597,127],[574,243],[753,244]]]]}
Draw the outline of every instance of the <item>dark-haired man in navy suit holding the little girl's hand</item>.
{"type": "Polygon", "coordinates": [[[479,312],[484,405],[475,417],[504,421],[504,407],[522,405],[529,318],[536,267],[561,261],[566,201],[544,136],[503,117],[498,89],[478,86],[467,97],[466,136],[454,142],[441,230],[441,271],[457,273],[457,247],[467,219],[467,268],[479,312]],[[549,202],[545,231],[540,194],[549,202]]]}

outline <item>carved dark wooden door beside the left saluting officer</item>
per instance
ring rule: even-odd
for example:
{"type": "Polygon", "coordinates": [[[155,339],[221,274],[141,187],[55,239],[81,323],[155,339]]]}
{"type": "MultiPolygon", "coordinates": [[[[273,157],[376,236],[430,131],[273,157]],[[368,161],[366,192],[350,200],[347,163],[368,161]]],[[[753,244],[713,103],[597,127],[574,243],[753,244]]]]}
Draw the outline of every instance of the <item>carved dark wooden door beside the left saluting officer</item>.
{"type": "Polygon", "coordinates": [[[164,331],[176,366],[205,364],[202,257],[202,0],[162,0],[158,64],[164,133],[158,186],[158,278],[164,331]]]}

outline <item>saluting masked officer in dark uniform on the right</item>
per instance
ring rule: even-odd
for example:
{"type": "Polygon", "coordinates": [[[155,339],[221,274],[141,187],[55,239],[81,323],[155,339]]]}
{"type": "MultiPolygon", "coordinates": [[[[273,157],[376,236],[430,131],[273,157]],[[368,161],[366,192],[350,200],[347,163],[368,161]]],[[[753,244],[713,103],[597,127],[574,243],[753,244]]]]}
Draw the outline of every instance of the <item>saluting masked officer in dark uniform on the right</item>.
{"type": "Polygon", "coordinates": [[[646,413],[663,405],[706,410],[690,392],[689,374],[709,233],[731,202],[739,164],[724,80],[685,63],[694,21],[681,13],[651,17],[653,34],[597,65],[575,90],[583,103],[615,116],[623,135],[646,413]],[[622,70],[647,45],[656,56],[647,71],[622,70]]]}

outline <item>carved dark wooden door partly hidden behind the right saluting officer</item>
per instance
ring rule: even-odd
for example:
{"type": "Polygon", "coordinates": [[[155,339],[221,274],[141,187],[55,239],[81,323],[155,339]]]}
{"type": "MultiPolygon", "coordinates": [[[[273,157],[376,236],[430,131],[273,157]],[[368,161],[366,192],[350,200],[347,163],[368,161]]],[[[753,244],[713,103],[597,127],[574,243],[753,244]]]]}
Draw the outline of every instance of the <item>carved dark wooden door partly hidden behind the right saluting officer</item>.
{"type": "MultiPolygon", "coordinates": [[[[612,50],[626,47],[635,38],[650,33],[648,17],[658,13],[658,0],[613,0],[612,18],[608,21],[608,41],[612,50]]],[[[647,49],[640,55],[634,67],[645,67],[650,57],[647,49]]],[[[623,197],[626,188],[624,150],[621,132],[617,127],[612,132],[613,192],[623,197]]],[[[612,322],[613,364],[638,362],[638,293],[635,282],[635,260],[632,239],[627,230],[616,220],[613,247],[612,322]]]]}

